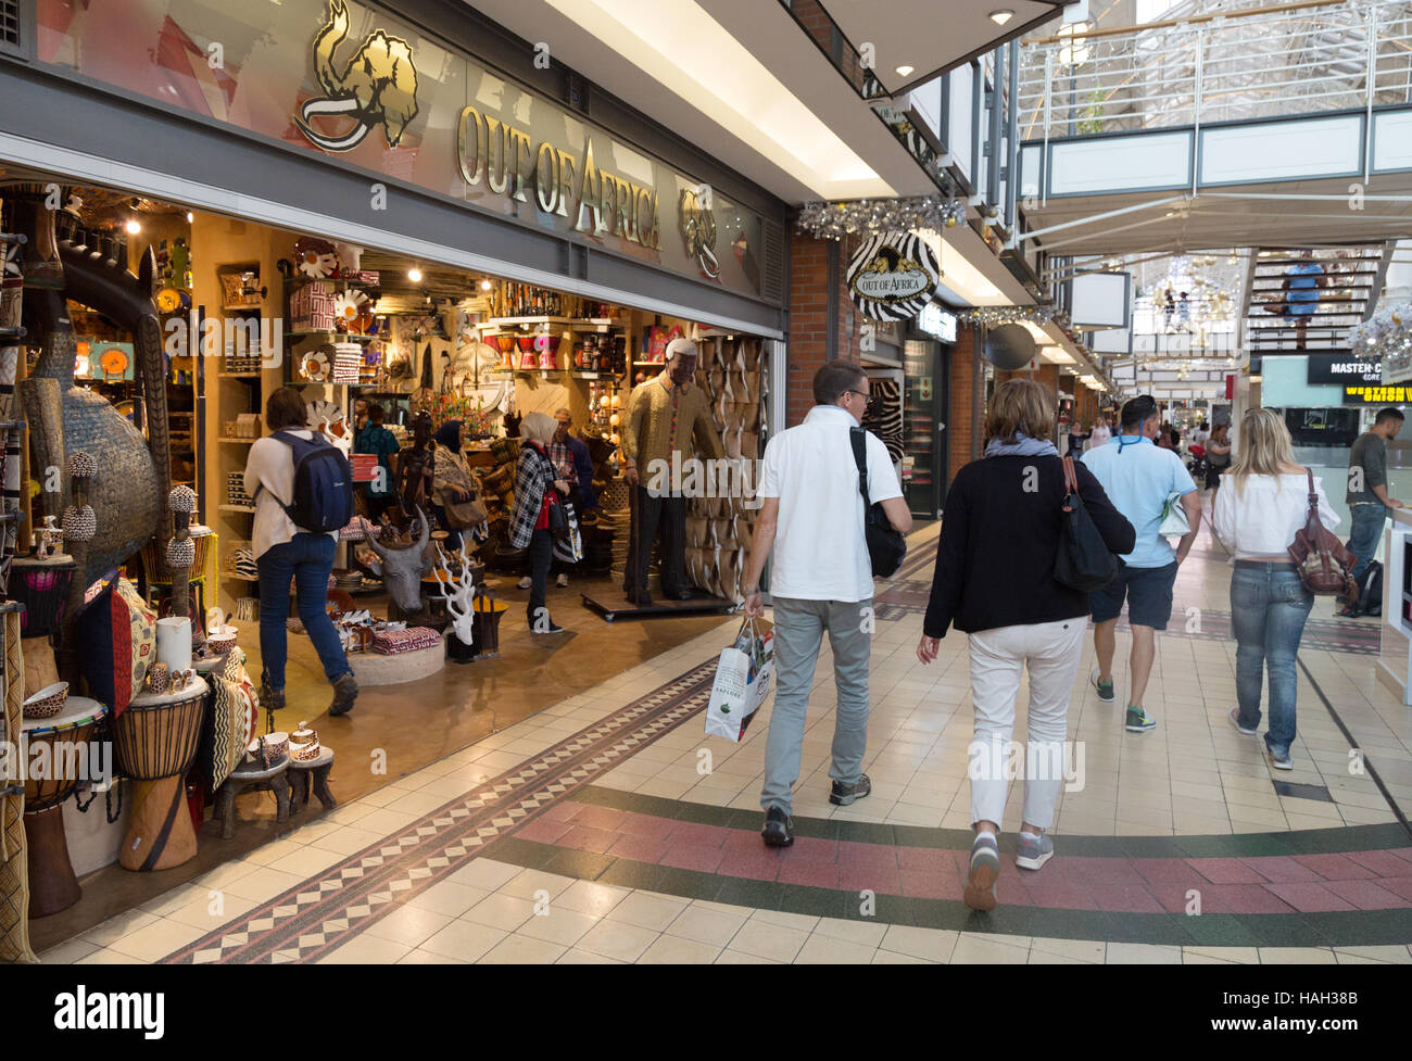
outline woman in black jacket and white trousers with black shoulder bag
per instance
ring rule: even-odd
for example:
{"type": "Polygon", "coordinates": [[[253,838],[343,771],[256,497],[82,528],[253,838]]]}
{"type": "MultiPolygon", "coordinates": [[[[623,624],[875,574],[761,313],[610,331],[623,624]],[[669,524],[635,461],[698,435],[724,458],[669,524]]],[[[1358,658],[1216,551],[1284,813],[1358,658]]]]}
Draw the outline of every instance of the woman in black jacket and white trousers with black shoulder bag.
{"type": "MultiPolygon", "coordinates": [[[[947,626],[970,635],[976,736],[970,746],[971,847],[966,904],[995,906],[997,834],[1014,776],[1011,732],[1019,679],[1029,667],[1029,744],[1025,748],[1022,869],[1053,855],[1053,825],[1065,777],[1069,697],[1083,655],[1089,595],[1055,581],[1065,499],[1063,460],[1052,442],[1053,398],[1039,384],[1003,384],[986,415],[986,457],[956,473],[942,518],[932,598],[916,657],[936,659],[947,626]]],[[[1079,497],[1114,553],[1134,546],[1132,525],[1099,480],[1075,461],[1079,497]]]]}

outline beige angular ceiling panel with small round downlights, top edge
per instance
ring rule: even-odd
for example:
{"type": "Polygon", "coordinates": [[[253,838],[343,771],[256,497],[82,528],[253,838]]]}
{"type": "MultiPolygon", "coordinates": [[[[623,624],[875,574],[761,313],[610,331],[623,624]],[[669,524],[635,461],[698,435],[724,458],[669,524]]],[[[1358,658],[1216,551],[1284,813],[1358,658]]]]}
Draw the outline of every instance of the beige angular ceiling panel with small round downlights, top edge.
{"type": "MultiPolygon", "coordinates": [[[[767,0],[758,0],[761,6],[767,0]]],[[[778,4],[778,0],[771,0],[778,4]]],[[[1063,3],[1035,0],[822,0],[839,30],[861,52],[875,49],[874,73],[894,96],[925,85],[938,73],[1043,25],[1059,14],[1063,3]],[[881,10],[880,10],[881,8],[881,10]],[[1012,11],[1004,24],[991,11],[1012,11]],[[898,68],[907,71],[899,73],[898,68]],[[911,69],[908,69],[911,68],[911,69]]]]}

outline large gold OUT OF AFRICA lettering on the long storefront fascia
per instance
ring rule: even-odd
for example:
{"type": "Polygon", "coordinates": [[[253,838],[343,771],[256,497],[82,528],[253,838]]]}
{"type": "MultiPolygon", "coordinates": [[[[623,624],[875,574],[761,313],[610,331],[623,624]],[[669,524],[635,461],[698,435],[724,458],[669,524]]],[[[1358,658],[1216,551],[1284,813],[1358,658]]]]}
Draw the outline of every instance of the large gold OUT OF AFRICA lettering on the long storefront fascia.
{"type": "Polygon", "coordinates": [[[593,164],[593,137],[575,155],[549,141],[535,145],[522,128],[463,107],[456,123],[456,165],[467,188],[484,182],[493,195],[535,202],[545,213],[568,217],[575,231],[620,236],[659,250],[655,188],[642,188],[593,164]]]}

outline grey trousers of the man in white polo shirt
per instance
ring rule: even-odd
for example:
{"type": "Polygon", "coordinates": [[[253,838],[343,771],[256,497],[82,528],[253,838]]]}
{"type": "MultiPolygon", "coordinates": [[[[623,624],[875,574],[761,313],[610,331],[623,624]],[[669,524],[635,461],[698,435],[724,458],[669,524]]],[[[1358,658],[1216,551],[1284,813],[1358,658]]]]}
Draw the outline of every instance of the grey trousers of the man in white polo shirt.
{"type": "Polygon", "coordinates": [[[765,741],[765,784],[760,806],[794,806],[799,780],[805,714],[823,633],[833,649],[833,681],[839,691],[829,776],[853,784],[863,773],[868,742],[868,655],[873,645],[873,601],[803,601],[775,597],[775,705],[765,741]]]}

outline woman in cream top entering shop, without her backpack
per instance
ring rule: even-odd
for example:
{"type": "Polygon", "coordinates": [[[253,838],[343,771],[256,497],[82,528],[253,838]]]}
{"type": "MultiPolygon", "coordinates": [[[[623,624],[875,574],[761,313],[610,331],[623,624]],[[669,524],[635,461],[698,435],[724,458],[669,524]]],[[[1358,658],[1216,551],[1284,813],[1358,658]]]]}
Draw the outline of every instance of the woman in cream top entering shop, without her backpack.
{"type": "MultiPolygon", "coordinates": [[[[304,395],[298,389],[281,387],[270,395],[265,426],[271,432],[309,442],[313,432],[305,430],[304,420],[304,395]]],[[[256,498],[251,549],[260,569],[260,656],[264,662],[260,700],[270,711],[284,707],[284,669],[289,655],[285,621],[289,618],[292,578],[299,619],[333,686],[329,714],[347,714],[357,697],[357,681],[333,619],[325,610],[339,532],[312,533],[289,519],[285,504],[294,504],[294,450],[278,437],[260,439],[250,447],[246,492],[256,498]]]]}

